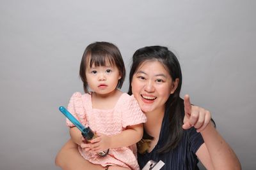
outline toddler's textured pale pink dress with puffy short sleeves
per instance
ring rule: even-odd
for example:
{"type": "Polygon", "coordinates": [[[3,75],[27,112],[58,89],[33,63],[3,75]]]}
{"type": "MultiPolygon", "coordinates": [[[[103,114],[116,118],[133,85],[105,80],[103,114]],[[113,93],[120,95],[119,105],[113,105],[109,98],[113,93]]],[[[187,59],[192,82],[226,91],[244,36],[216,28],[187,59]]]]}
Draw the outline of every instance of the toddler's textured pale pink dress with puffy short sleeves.
{"type": "MultiPolygon", "coordinates": [[[[119,134],[128,125],[141,124],[147,121],[147,117],[140,110],[136,99],[128,94],[122,94],[111,110],[92,108],[91,94],[76,92],[70,99],[68,111],[86,127],[108,136],[119,134]]],[[[67,125],[74,127],[67,119],[67,125]]],[[[136,144],[129,147],[110,148],[106,157],[100,157],[97,153],[86,152],[80,146],[79,152],[84,159],[101,166],[120,166],[129,169],[140,169],[137,162],[136,144]]]]}

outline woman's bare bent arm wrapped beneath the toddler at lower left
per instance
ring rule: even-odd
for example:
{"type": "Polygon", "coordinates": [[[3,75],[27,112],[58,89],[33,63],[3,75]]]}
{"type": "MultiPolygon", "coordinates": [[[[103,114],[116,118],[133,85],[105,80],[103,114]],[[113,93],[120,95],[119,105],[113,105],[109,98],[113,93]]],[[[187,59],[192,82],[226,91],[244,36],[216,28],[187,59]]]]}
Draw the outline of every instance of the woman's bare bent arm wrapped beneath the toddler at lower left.
{"type": "Polygon", "coordinates": [[[92,164],[88,160],[85,160],[78,152],[76,143],[71,139],[65,143],[56,155],[55,164],[63,170],[105,169],[102,166],[92,164]]]}

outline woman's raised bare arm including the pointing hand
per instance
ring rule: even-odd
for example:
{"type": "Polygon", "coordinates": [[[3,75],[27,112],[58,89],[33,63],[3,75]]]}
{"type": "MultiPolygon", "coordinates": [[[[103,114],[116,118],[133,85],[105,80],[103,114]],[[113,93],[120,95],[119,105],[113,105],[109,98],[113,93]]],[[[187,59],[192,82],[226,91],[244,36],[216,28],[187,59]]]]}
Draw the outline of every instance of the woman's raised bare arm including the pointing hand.
{"type": "Polygon", "coordinates": [[[184,129],[195,127],[202,134],[204,144],[198,148],[196,156],[207,169],[241,169],[236,153],[216,131],[211,113],[204,108],[191,106],[189,96],[184,97],[184,129]]]}

